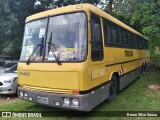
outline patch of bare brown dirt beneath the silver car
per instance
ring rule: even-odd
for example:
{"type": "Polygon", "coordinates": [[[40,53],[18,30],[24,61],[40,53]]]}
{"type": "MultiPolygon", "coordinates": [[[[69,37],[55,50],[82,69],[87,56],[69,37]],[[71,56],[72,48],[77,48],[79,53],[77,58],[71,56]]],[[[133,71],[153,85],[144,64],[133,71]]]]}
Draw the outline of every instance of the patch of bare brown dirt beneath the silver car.
{"type": "Polygon", "coordinates": [[[0,95],[0,106],[8,103],[15,103],[17,95],[0,95]]]}

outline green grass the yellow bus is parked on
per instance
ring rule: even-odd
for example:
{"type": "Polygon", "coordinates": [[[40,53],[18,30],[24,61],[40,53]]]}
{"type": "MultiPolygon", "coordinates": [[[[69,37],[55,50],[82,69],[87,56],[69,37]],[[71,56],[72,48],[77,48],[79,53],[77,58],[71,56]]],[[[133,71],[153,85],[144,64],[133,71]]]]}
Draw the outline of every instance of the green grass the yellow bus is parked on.
{"type": "MultiPolygon", "coordinates": [[[[151,90],[148,88],[149,85],[159,84],[160,85],[160,71],[149,71],[146,73],[145,77],[136,80],[124,90],[122,90],[116,97],[113,102],[104,101],[98,107],[93,109],[91,112],[87,113],[87,117],[83,117],[86,113],[78,112],[81,117],[73,117],[71,119],[87,119],[87,120],[106,120],[106,119],[113,119],[113,120],[142,120],[146,119],[146,117],[103,117],[104,113],[99,111],[160,111],[160,92],[151,90]],[[100,114],[103,114],[102,117],[100,114]]],[[[66,116],[62,115],[62,112],[67,113],[71,112],[71,114],[77,114],[74,111],[62,110],[58,108],[52,108],[47,106],[35,105],[33,103],[17,100],[14,104],[7,104],[0,106],[1,111],[61,111],[58,113],[52,112],[52,116],[59,116],[59,117],[52,117],[52,118],[45,118],[45,119],[69,119],[66,116]]],[[[115,112],[113,112],[115,113],[115,112]]],[[[116,112],[118,113],[118,112],[116,112]]],[[[159,112],[160,113],[160,112],[159,112]]],[[[105,113],[110,114],[111,113],[105,113]]],[[[112,115],[113,116],[113,115],[112,115]]],[[[9,118],[8,118],[9,119],[9,118]]],[[[19,118],[22,119],[22,118],[19,118]]],[[[25,118],[26,119],[26,118],[25,118]]],[[[33,118],[35,119],[35,118],[33,118]]],[[[44,118],[42,118],[44,119],[44,118]]],[[[149,120],[159,120],[160,118],[156,117],[147,117],[149,120]]]]}

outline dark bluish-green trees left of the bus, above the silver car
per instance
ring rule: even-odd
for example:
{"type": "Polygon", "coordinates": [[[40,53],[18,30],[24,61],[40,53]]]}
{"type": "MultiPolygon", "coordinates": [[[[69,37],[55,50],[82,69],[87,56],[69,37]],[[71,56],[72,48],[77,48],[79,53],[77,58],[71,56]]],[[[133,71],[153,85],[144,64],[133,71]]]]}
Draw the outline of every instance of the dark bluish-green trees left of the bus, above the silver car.
{"type": "Polygon", "coordinates": [[[24,21],[36,13],[34,0],[0,1],[0,54],[19,57],[24,21]]]}

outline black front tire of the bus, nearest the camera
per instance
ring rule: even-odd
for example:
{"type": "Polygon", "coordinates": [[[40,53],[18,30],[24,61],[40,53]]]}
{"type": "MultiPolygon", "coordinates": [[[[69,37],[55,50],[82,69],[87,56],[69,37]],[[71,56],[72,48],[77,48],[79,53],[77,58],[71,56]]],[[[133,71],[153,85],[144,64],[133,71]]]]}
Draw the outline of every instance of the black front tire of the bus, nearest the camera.
{"type": "Polygon", "coordinates": [[[112,76],[112,79],[110,80],[110,85],[109,85],[109,97],[108,101],[111,102],[115,99],[117,96],[117,78],[115,75],[112,76]]]}

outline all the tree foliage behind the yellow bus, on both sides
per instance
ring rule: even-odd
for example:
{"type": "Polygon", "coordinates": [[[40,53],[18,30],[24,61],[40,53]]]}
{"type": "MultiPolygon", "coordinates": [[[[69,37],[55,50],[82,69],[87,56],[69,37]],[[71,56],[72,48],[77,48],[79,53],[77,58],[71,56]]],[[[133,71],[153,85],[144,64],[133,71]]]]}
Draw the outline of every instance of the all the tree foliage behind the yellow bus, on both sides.
{"type": "MultiPolygon", "coordinates": [[[[105,11],[147,36],[151,57],[160,58],[154,53],[156,47],[160,46],[160,0],[106,1],[108,5],[105,11]]],[[[56,7],[78,3],[96,5],[99,2],[100,0],[0,0],[0,55],[19,56],[27,16],[56,7]]]]}

